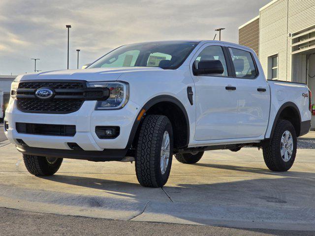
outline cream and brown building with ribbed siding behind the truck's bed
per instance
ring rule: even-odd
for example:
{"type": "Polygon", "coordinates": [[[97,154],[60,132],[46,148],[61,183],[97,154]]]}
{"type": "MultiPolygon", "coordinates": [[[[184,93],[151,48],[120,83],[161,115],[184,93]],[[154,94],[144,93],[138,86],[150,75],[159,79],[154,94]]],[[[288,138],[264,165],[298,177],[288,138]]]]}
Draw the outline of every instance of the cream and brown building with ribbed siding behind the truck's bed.
{"type": "MultiPolygon", "coordinates": [[[[269,80],[306,83],[315,104],[315,0],[273,0],[239,27],[269,80]]],[[[312,129],[315,116],[312,116],[312,129]]]]}

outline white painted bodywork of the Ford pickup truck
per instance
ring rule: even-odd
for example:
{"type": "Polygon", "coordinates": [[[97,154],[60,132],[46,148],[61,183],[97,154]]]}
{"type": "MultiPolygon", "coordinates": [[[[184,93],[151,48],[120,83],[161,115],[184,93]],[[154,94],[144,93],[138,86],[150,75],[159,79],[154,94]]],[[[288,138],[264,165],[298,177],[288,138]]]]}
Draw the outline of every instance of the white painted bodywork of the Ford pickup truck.
{"type": "Polygon", "coordinates": [[[95,101],[86,101],[78,112],[65,115],[22,113],[16,108],[15,101],[11,99],[5,118],[10,125],[6,135],[12,143],[16,143],[15,140],[21,138],[31,147],[69,149],[66,143],[75,142],[85,150],[123,149],[126,148],[136,116],[150,99],[159,95],[172,96],[183,104],[189,117],[189,147],[260,142],[264,139],[268,117],[267,138],[280,106],[286,101],[295,102],[300,109],[302,121],[311,119],[308,100],[302,97],[302,93],[308,91],[306,86],[280,82],[267,83],[254,53],[260,72],[255,80],[192,76],[191,63],[198,55],[198,50],[208,45],[221,44],[239,47],[253,53],[251,49],[236,44],[203,41],[176,70],[148,67],[95,68],[18,76],[18,81],[121,80],[129,83],[130,96],[126,106],[120,110],[95,111],[95,101]],[[189,86],[194,92],[193,105],[190,105],[187,97],[189,86]],[[228,91],[225,90],[225,86],[234,86],[238,89],[228,91]],[[262,94],[256,92],[257,88],[266,88],[267,91],[262,94]],[[279,99],[279,90],[284,91],[281,99],[279,99]],[[271,92],[270,114],[269,92],[271,92]],[[14,127],[15,122],[75,124],[77,134],[74,137],[18,134],[14,127]],[[114,140],[99,140],[95,135],[97,125],[118,125],[121,127],[121,134],[114,140]]]}

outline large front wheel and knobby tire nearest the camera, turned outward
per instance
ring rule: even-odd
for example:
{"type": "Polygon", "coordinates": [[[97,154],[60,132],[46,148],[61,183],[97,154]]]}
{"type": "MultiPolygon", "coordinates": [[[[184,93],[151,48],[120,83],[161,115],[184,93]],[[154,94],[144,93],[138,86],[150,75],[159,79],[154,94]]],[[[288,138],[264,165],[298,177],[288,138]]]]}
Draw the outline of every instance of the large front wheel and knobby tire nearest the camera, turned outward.
{"type": "Polygon", "coordinates": [[[144,187],[162,187],[173,155],[172,124],[165,116],[149,115],[141,126],[135,156],[136,176],[144,187]]]}

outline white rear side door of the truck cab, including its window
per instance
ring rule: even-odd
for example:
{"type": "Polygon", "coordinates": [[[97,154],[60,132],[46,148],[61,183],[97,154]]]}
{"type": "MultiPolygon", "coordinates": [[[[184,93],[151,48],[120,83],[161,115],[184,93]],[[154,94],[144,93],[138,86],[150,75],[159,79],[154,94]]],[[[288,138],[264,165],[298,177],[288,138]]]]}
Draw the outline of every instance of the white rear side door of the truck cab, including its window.
{"type": "MultiPolygon", "coordinates": [[[[237,138],[255,138],[266,132],[270,110],[270,89],[264,74],[258,71],[255,57],[243,47],[225,45],[237,79],[237,138]]],[[[256,58],[257,59],[257,58],[256,58]]]]}

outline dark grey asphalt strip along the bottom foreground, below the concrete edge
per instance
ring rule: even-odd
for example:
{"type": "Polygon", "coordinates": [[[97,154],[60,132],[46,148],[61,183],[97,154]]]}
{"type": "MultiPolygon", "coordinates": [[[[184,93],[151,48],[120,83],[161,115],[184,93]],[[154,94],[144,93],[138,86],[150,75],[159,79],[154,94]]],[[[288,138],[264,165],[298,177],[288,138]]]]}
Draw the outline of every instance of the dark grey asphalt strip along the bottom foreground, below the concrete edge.
{"type": "Polygon", "coordinates": [[[238,229],[106,220],[0,208],[0,236],[314,236],[312,231],[238,229]]]}

